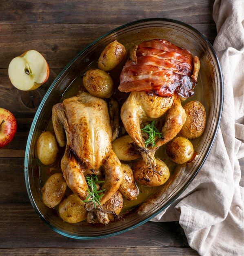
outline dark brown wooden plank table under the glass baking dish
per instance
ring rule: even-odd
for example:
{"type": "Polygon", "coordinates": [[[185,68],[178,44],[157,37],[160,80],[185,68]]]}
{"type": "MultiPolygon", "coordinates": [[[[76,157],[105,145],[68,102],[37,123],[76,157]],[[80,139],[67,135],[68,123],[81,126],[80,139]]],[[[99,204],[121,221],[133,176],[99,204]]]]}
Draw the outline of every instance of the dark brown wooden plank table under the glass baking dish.
{"type": "Polygon", "coordinates": [[[38,218],[24,182],[24,154],[35,112],[62,68],[80,50],[111,29],[143,18],[186,22],[213,43],[213,0],[1,0],[0,107],[13,112],[17,133],[0,149],[0,255],[198,255],[177,222],[146,224],[111,238],[75,240],[55,233],[38,218]],[[49,63],[47,83],[32,92],[14,88],[12,58],[28,49],[49,63]]]}

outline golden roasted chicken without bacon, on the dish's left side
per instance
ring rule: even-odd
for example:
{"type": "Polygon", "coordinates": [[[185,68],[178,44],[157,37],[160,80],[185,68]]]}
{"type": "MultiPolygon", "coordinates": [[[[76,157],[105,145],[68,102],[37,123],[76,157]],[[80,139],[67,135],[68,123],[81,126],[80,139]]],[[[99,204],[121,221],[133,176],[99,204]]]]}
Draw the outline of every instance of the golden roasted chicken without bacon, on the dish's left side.
{"type": "Polygon", "coordinates": [[[104,204],[123,180],[120,161],[111,146],[107,103],[80,92],[53,106],[52,122],[58,144],[66,145],[61,169],[67,185],[84,200],[88,196],[85,175],[98,174],[102,167],[105,191],[100,203],[104,204]]]}

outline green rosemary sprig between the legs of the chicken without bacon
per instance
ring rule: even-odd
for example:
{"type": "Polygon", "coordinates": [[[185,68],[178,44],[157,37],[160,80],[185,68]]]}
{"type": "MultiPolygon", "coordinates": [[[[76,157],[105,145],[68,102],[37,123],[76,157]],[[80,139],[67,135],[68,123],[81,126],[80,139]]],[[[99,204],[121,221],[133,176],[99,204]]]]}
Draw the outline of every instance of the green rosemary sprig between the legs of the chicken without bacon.
{"type": "Polygon", "coordinates": [[[84,202],[93,202],[94,207],[96,209],[96,202],[100,204],[100,198],[104,195],[98,195],[98,193],[101,193],[105,191],[105,189],[97,190],[96,183],[104,183],[103,180],[98,180],[98,175],[91,175],[86,177],[87,185],[89,188],[87,189],[87,192],[89,193],[88,197],[84,200],[84,202]]]}

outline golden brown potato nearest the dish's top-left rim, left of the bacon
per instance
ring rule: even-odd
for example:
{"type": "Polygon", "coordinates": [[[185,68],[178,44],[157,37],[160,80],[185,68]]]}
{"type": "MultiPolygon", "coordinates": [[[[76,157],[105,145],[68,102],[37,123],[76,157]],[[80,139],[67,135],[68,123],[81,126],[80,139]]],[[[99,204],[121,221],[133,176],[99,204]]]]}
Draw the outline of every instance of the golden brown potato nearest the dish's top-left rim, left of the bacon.
{"type": "Polygon", "coordinates": [[[124,45],[116,40],[108,44],[98,59],[98,67],[101,70],[109,71],[115,68],[124,58],[126,53],[124,45]]]}

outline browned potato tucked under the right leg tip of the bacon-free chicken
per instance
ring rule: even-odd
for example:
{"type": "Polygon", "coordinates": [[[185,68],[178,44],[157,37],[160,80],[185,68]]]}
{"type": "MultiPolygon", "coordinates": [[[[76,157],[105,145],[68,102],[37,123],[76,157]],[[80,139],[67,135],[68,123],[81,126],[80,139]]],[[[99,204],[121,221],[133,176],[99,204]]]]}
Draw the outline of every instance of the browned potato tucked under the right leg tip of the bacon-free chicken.
{"type": "MultiPolygon", "coordinates": [[[[116,215],[119,215],[122,208],[123,208],[123,195],[120,193],[120,191],[116,191],[112,197],[106,201],[105,204],[101,207],[106,212],[113,211],[116,215]]],[[[112,213],[108,214],[109,220],[113,221],[114,216],[112,213]]]]}

